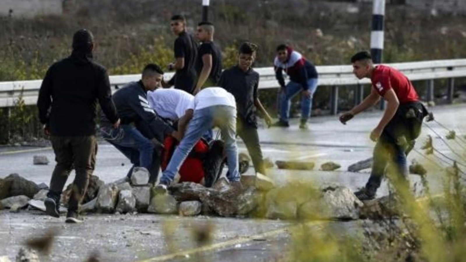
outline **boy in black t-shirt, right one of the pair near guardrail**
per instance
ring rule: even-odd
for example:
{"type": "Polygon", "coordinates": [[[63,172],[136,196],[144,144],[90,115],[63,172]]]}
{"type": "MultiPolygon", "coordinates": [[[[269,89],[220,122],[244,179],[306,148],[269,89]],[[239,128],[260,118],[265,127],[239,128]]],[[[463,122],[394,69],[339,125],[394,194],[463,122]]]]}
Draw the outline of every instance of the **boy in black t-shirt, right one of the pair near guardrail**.
{"type": "Polygon", "coordinates": [[[202,42],[198,48],[195,69],[198,76],[193,94],[197,94],[204,87],[217,86],[222,73],[222,53],[213,42],[214,27],[210,22],[200,22],[196,31],[196,38],[202,42]]]}

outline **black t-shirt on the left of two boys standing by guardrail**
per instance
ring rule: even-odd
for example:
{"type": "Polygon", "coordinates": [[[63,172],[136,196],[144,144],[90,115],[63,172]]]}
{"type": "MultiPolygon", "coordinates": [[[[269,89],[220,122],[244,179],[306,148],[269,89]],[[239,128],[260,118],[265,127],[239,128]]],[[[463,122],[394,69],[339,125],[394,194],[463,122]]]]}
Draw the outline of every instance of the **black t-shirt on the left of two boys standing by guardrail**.
{"type": "Polygon", "coordinates": [[[177,70],[175,77],[173,78],[175,88],[185,90],[189,93],[192,92],[195,81],[196,71],[194,65],[196,62],[196,56],[198,52],[198,43],[191,34],[183,32],[178,35],[174,45],[175,58],[184,58],[185,67],[181,70],[177,70]]]}

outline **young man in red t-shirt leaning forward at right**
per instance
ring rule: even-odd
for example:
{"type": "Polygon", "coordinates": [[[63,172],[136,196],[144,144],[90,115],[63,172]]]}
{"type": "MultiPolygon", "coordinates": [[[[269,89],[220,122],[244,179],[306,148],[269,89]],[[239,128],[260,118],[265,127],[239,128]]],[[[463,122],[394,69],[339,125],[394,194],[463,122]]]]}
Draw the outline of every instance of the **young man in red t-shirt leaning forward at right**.
{"type": "Polygon", "coordinates": [[[387,102],[382,119],[370,133],[370,139],[377,142],[373,152],[372,172],[366,186],[356,192],[360,200],[370,200],[376,195],[387,164],[408,186],[406,154],[412,149],[419,136],[422,120],[427,110],[419,102],[419,97],[409,79],[397,69],[377,65],[372,62],[369,52],[363,51],[351,57],[353,73],[358,79],[370,78],[372,90],[364,101],[343,113],[340,121],[346,124],[358,113],[376,104],[381,97],[387,102]]]}

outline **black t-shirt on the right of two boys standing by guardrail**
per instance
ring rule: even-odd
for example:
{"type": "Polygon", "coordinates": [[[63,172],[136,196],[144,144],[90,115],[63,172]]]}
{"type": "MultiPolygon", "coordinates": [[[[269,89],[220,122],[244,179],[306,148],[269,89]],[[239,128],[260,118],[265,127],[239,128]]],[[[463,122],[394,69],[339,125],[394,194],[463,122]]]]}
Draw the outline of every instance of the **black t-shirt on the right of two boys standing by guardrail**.
{"type": "Polygon", "coordinates": [[[204,62],[202,62],[202,56],[204,55],[212,55],[212,69],[210,70],[206,83],[204,83],[202,87],[216,86],[219,82],[220,74],[222,73],[222,53],[214,42],[202,43],[198,48],[198,57],[195,66],[198,77],[204,65],[204,62]]]}

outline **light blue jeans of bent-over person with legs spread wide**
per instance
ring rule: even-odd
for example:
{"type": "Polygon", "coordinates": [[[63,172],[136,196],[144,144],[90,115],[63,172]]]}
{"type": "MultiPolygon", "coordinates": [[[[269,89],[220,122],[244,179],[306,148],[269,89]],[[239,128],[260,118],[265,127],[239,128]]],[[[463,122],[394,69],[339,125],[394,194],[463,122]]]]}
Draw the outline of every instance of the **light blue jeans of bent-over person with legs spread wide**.
{"type": "Polygon", "coordinates": [[[226,105],[209,106],[195,110],[186,129],[185,137],[181,140],[170,163],[160,178],[160,183],[170,184],[178,173],[189,152],[206,133],[207,130],[218,126],[225,142],[225,152],[228,164],[228,180],[239,181],[238,148],[236,147],[236,109],[226,105]]]}

